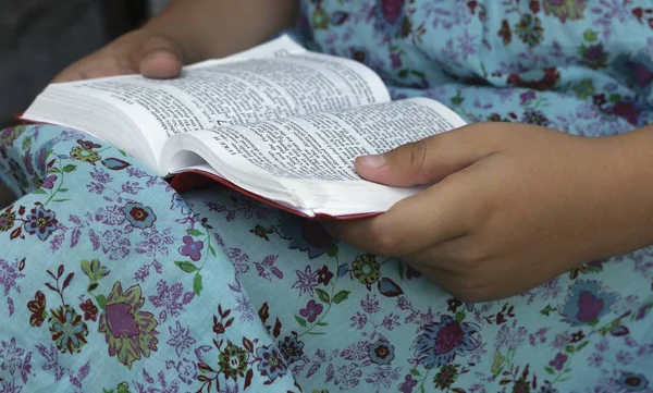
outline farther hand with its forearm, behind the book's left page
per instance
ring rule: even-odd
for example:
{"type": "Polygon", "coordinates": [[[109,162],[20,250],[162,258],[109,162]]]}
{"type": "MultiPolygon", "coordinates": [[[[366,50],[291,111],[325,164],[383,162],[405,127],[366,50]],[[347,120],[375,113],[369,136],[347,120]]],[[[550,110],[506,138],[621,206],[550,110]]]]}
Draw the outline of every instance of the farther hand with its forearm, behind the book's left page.
{"type": "Polygon", "coordinates": [[[171,0],[144,27],[64,70],[53,82],[121,74],[180,75],[184,63],[223,58],[293,24],[297,0],[171,0]]]}

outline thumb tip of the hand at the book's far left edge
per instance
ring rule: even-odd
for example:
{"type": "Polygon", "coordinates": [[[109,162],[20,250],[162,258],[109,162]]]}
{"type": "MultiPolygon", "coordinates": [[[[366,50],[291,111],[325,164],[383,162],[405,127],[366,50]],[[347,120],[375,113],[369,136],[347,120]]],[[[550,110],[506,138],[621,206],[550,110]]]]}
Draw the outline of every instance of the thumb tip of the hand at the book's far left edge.
{"type": "Polygon", "coordinates": [[[138,69],[146,77],[173,78],[182,72],[182,48],[168,38],[153,36],[146,39],[135,56],[134,63],[139,64],[138,69]]]}

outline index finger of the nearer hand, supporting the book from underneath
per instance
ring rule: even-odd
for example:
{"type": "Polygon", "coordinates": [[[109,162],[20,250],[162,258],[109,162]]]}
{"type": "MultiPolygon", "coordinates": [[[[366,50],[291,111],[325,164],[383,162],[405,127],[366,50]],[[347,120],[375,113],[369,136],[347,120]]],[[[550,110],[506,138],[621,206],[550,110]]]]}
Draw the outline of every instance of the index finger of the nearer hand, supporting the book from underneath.
{"type": "Polygon", "coordinates": [[[463,236],[483,214],[486,182],[473,167],[365,220],[333,221],[326,229],[368,253],[405,257],[463,236]]]}

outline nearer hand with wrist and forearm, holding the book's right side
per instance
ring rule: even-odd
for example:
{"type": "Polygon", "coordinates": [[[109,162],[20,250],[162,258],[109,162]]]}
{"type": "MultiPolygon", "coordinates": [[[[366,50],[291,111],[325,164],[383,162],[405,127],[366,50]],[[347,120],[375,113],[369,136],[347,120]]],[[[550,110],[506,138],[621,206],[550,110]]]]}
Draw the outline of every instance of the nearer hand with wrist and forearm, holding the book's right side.
{"type": "Polygon", "coordinates": [[[379,217],[326,228],[372,254],[404,258],[464,300],[515,295],[651,243],[652,198],[638,195],[645,189],[628,157],[650,148],[621,139],[632,138],[489,123],[359,158],[357,171],[370,181],[441,182],[379,217]]]}

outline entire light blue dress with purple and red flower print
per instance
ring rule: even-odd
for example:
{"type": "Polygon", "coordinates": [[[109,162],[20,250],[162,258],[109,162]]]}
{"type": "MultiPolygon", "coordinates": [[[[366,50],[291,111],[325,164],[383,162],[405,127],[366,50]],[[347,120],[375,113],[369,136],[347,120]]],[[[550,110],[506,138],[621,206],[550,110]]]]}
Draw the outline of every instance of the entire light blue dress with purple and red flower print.
{"type": "MultiPolygon", "coordinates": [[[[297,36],[395,98],[604,136],[648,124],[653,4],[311,0],[297,36]]],[[[77,131],[0,133],[0,392],[653,392],[653,248],[463,304],[77,131]]]]}

